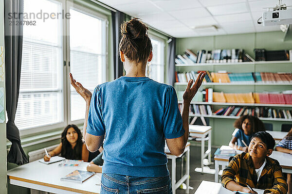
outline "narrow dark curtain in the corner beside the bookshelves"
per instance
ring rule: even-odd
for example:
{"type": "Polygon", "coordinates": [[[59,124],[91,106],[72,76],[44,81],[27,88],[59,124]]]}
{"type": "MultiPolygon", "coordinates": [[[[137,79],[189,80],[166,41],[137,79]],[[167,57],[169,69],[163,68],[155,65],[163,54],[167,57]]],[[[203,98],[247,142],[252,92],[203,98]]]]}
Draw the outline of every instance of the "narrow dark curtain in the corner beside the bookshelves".
{"type": "Polygon", "coordinates": [[[167,83],[169,85],[174,85],[175,82],[175,47],[176,47],[176,39],[171,38],[171,41],[168,43],[167,49],[167,83]]]}

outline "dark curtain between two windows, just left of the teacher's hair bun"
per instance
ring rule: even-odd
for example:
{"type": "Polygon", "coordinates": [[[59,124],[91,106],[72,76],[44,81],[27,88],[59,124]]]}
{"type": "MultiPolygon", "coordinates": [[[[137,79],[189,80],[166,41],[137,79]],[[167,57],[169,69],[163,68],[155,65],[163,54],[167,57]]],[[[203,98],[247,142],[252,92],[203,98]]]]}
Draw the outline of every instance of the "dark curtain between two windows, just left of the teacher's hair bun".
{"type": "Polygon", "coordinates": [[[123,12],[111,11],[112,19],[112,38],[113,38],[113,70],[114,79],[123,76],[123,63],[119,57],[119,43],[121,40],[121,24],[126,20],[126,15],[123,12]]]}

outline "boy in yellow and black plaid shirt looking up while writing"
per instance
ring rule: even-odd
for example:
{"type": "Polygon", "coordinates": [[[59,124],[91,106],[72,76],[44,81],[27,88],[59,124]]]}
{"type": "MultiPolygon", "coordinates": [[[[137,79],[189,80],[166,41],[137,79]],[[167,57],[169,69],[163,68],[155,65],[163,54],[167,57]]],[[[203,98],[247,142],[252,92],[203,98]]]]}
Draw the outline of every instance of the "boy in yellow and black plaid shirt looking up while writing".
{"type": "Polygon", "coordinates": [[[266,131],[252,136],[248,153],[236,155],[223,170],[221,184],[231,191],[253,193],[246,187],[265,189],[264,194],[286,194],[287,182],[278,161],[268,157],[275,141],[266,131]]]}

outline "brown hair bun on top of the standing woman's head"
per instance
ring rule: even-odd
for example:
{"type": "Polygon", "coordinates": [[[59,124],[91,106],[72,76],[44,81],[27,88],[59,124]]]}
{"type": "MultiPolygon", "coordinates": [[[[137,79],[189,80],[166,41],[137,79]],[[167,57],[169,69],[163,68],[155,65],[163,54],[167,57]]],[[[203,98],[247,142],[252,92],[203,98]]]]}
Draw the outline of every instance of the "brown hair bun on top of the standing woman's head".
{"type": "Polygon", "coordinates": [[[148,27],[139,18],[133,18],[121,25],[121,34],[128,39],[148,38],[148,27]]]}

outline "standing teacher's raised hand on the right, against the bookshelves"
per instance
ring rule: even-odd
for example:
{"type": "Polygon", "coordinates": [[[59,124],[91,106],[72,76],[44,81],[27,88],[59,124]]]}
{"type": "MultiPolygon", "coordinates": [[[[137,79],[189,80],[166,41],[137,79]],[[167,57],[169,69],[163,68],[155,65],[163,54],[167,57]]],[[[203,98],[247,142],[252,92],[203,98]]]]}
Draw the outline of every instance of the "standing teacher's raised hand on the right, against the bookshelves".
{"type": "Polygon", "coordinates": [[[186,89],[184,90],[183,93],[183,101],[186,103],[190,103],[193,99],[193,97],[196,95],[198,92],[198,89],[200,88],[202,81],[204,80],[206,73],[200,72],[196,82],[193,84],[193,80],[190,80],[186,86],[186,89]],[[192,87],[191,87],[192,86],[192,87]]]}

